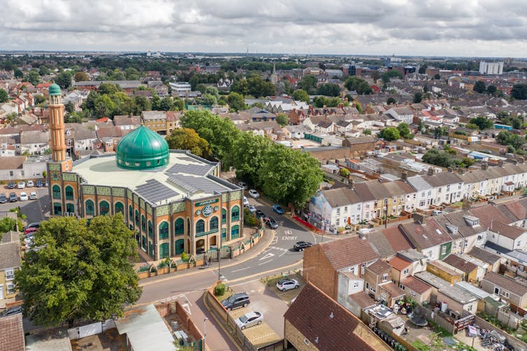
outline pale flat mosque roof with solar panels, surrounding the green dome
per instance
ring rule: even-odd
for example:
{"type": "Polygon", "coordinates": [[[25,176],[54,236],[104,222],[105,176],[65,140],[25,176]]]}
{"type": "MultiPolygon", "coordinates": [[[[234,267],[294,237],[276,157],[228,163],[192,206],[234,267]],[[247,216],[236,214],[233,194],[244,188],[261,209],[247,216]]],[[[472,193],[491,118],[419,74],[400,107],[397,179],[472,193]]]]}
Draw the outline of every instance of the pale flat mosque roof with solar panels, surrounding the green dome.
{"type": "Polygon", "coordinates": [[[122,169],[113,154],[80,159],[73,164],[72,172],[86,180],[87,185],[127,187],[150,203],[161,204],[239,189],[212,176],[215,166],[215,162],[186,151],[171,150],[168,164],[159,169],[122,169]]]}

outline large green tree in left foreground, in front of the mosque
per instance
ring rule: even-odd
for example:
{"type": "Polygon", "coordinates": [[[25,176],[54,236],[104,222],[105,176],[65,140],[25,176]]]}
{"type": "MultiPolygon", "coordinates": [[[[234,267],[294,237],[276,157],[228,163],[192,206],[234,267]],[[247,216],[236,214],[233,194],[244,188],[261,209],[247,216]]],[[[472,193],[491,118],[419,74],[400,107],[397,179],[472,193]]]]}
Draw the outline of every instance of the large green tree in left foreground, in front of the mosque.
{"type": "Polygon", "coordinates": [[[40,250],[26,252],[15,282],[24,313],[38,325],[122,316],[141,294],[129,262],[137,257],[133,232],[121,214],[86,220],[53,217],[34,234],[40,250]]]}

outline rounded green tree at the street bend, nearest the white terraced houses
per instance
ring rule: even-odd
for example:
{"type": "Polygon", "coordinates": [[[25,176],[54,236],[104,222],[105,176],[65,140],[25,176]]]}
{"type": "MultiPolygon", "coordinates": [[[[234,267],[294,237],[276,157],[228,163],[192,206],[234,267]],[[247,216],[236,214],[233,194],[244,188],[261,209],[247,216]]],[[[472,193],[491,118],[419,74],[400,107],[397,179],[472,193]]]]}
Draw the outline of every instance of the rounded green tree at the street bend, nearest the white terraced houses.
{"type": "Polygon", "coordinates": [[[304,206],[323,180],[317,159],[308,152],[273,144],[264,156],[260,182],[270,199],[304,206]]]}

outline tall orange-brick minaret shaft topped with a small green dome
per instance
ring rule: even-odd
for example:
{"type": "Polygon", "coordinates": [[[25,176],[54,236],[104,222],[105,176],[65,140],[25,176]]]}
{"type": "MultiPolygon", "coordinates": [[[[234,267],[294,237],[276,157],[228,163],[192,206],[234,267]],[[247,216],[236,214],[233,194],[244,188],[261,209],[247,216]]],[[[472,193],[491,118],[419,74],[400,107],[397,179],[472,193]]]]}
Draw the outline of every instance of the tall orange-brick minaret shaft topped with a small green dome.
{"type": "Polygon", "coordinates": [[[66,161],[66,140],[64,138],[64,105],[62,104],[60,87],[50,85],[50,134],[51,156],[54,162],[66,161]]]}

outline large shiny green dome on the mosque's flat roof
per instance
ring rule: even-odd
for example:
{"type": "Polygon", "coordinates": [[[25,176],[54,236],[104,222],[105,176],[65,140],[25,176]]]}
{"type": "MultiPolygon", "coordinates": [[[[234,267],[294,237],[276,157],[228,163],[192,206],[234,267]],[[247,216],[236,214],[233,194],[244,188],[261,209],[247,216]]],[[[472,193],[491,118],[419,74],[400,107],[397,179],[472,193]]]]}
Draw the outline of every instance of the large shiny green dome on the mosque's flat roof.
{"type": "Polygon", "coordinates": [[[168,143],[145,126],[131,131],[117,144],[117,166],[122,169],[156,169],[168,164],[168,143]]]}

